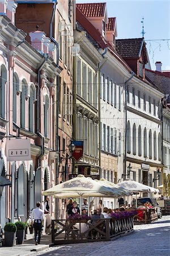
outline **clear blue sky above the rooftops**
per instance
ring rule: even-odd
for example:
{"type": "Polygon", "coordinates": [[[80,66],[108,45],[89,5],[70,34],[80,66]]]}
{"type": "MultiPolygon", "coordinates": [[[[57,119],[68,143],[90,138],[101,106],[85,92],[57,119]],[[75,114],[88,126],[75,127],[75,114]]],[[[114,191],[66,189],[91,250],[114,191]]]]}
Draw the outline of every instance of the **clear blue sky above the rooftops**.
{"type": "Polygon", "coordinates": [[[144,38],[152,70],[155,70],[156,61],[162,61],[163,70],[170,70],[170,0],[76,0],[76,3],[96,2],[107,2],[108,16],[116,16],[117,39],[141,38],[143,17],[144,38]]]}

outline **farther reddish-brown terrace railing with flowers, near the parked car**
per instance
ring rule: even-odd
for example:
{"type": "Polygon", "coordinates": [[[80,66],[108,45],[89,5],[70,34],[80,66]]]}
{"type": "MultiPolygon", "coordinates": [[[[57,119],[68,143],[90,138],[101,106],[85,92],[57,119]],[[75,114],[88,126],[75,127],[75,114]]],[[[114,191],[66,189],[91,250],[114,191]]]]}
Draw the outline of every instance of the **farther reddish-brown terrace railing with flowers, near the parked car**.
{"type": "Polygon", "coordinates": [[[134,216],[134,224],[149,224],[158,220],[156,208],[137,209],[138,214],[134,216]]]}

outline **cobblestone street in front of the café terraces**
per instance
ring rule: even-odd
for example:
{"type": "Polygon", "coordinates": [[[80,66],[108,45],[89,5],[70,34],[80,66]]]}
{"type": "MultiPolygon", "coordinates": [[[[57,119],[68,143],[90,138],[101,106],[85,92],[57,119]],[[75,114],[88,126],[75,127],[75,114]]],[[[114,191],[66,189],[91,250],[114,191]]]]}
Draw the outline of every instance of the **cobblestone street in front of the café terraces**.
{"type": "Polygon", "coordinates": [[[50,247],[35,255],[105,256],[170,255],[169,216],[148,225],[135,225],[135,232],[110,242],[79,243],[50,247]]]}

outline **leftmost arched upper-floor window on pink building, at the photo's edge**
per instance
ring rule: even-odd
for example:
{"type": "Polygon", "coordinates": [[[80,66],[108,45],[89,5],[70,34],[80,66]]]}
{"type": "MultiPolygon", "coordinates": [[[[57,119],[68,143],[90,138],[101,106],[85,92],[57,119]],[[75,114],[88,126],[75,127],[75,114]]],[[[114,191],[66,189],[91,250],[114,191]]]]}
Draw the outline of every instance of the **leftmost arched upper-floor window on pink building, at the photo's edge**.
{"type": "Polygon", "coordinates": [[[5,65],[1,66],[1,77],[0,77],[0,115],[5,118],[5,89],[7,81],[7,70],[5,65]]]}

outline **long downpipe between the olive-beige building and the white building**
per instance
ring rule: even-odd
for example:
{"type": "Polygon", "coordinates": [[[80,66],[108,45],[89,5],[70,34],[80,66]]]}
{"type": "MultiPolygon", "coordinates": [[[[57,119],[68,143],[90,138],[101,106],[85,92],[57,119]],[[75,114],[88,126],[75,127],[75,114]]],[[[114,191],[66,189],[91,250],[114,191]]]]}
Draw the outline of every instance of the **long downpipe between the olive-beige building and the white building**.
{"type": "MultiPolygon", "coordinates": [[[[101,64],[101,66],[99,67],[99,64],[98,64],[98,85],[99,85],[99,87],[98,87],[98,105],[99,105],[99,119],[100,119],[100,72],[101,72],[101,68],[103,68],[104,67],[104,65],[107,63],[107,60],[108,60],[108,58],[107,57],[104,57],[104,55],[107,53],[107,51],[108,51],[108,47],[106,47],[105,49],[104,49],[104,52],[101,54],[101,56],[104,58],[104,63],[103,64],[101,64]]],[[[100,134],[101,134],[101,124],[100,124],[101,122],[99,121],[99,168],[100,168],[100,171],[99,171],[99,175],[100,175],[100,173],[101,173],[101,142],[100,142],[100,134]]]]}

